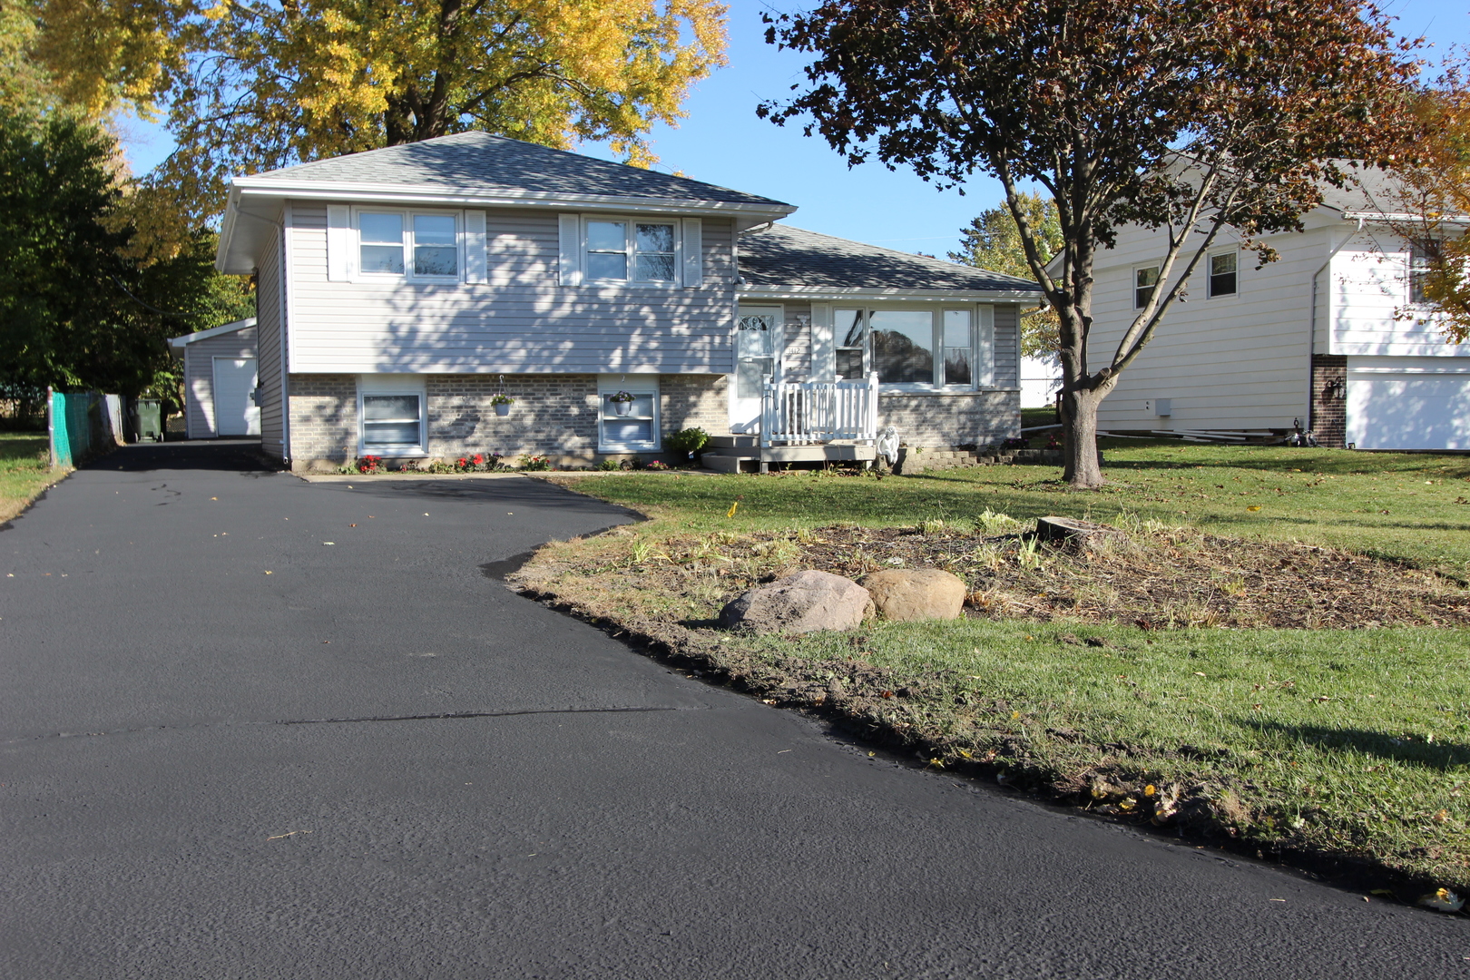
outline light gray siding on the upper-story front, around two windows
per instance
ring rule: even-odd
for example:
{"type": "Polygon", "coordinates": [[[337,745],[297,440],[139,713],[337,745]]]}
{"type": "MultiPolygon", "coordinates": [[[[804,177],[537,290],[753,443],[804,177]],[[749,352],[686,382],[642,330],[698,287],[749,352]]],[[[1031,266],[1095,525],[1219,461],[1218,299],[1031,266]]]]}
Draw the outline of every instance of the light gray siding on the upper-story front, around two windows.
{"type": "Polygon", "coordinates": [[[293,204],[291,370],[728,373],[734,223],[703,223],[703,285],[562,287],[557,216],[487,213],[488,282],[329,282],[326,207],[293,204]]]}

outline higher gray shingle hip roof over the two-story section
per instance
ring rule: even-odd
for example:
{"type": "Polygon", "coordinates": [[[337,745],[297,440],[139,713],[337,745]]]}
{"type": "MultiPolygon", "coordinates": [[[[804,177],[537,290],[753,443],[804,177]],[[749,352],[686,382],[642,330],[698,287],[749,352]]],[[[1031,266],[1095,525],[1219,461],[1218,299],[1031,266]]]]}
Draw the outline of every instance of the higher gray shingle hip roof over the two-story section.
{"type": "MultiPolygon", "coordinates": [[[[550,195],[613,195],[651,200],[784,206],[684,176],[644,170],[579,153],[553,150],[488,132],[460,132],[438,140],[351,153],[331,160],[259,173],[251,179],[291,182],[413,184],[550,195]]],[[[789,207],[789,206],[786,206],[789,207]]]]}

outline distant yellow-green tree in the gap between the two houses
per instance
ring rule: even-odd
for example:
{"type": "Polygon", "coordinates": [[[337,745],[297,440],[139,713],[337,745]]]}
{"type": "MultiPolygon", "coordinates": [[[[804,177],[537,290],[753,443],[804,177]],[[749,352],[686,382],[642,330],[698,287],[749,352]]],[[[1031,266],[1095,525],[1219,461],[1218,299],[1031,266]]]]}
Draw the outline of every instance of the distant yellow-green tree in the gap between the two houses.
{"type": "MultiPolygon", "coordinates": [[[[1055,254],[1061,248],[1057,203],[1042,194],[1022,191],[1020,209],[1042,254],[1055,254]]],[[[960,251],[951,251],[951,260],[1022,279],[1032,278],[1026,248],[1020,241],[1020,226],[1005,203],[980,212],[969,226],[960,229],[960,251]]],[[[1057,311],[1050,304],[1025,313],[1020,317],[1022,356],[1054,359],[1061,342],[1057,326],[1057,311]]]]}

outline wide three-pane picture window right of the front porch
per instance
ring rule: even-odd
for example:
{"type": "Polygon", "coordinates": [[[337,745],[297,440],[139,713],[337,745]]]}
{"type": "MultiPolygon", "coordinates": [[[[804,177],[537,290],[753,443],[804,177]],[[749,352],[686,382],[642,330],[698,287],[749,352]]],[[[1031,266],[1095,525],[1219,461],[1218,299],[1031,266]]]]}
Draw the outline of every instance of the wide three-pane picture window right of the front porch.
{"type": "Polygon", "coordinates": [[[882,385],[969,388],[989,383],[975,310],[833,310],[836,375],[872,370],[882,385]]]}

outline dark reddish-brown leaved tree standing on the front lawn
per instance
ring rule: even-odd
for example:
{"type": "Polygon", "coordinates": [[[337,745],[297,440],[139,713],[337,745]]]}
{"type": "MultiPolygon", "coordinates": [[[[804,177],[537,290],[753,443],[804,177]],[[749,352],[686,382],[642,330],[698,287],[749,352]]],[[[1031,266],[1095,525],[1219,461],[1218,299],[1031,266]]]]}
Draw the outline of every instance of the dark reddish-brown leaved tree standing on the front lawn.
{"type": "Polygon", "coordinates": [[[761,115],[806,118],[851,165],[1000,179],[1057,313],[1079,488],[1102,482],[1098,404],[1220,229],[1273,260],[1263,237],[1299,229],[1323,184],[1345,179],[1332,160],[1379,163],[1401,144],[1414,72],[1363,0],[828,0],[775,18],[767,41],[813,60],[761,115]],[[1054,259],[1025,209],[1032,182],[1057,204],[1054,259]],[[1129,223],[1164,232],[1160,285],[1095,356],[1094,263],[1129,223]]]}

